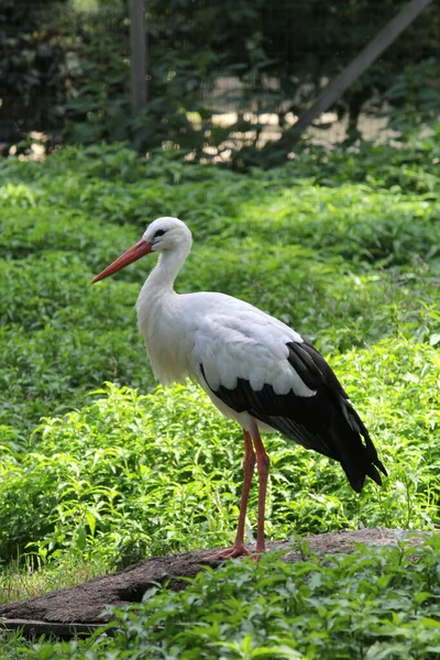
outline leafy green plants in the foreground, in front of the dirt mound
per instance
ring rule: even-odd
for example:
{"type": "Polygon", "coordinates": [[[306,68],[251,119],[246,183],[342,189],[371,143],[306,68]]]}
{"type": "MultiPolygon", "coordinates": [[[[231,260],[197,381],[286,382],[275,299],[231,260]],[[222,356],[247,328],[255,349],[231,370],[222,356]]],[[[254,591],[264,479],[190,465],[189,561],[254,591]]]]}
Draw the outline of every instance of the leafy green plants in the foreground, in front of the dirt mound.
{"type": "Polygon", "coordinates": [[[142,605],[119,613],[114,639],[59,650],[78,660],[435,660],[439,550],[437,539],[416,557],[414,548],[360,548],[326,566],[315,556],[230,562],[184,592],[151,588],[142,605]]]}

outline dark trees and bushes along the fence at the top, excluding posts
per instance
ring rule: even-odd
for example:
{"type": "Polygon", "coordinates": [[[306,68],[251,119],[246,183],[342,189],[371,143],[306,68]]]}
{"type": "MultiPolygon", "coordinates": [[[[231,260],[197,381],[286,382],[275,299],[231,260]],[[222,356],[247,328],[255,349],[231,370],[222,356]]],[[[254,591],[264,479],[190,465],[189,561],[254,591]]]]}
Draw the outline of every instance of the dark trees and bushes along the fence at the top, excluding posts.
{"type": "MultiPolygon", "coordinates": [[[[397,4],[150,0],[150,100],[133,118],[125,0],[3,0],[0,150],[25,152],[38,131],[48,151],[62,142],[128,140],[141,153],[221,155],[237,168],[285,163],[296,148],[293,116],[396,15],[397,4]],[[219,113],[228,121],[219,122],[219,113]],[[262,150],[267,114],[276,117],[279,139],[262,150]]],[[[334,106],[338,120],[348,119],[351,144],[361,136],[361,114],[386,116],[406,140],[436,125],[439,28],[432,3],[334,106]]]]}

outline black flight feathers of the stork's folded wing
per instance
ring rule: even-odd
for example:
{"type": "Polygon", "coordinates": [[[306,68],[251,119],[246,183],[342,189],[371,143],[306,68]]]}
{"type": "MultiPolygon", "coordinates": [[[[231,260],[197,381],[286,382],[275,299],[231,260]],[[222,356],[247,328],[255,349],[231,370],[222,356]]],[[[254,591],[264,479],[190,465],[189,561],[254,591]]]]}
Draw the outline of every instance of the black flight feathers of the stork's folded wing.
{"type": "MultiPolygon", "coordinates": [[[[314,396],[298,396],[293,391],[276,394],[271,384],[254,391],[249,381],[238,378],[234,389],[220,385],[212,389],[218,398],[238,413],[246,411],[280,431],[306,449],[314,449],[339,461],[355,491],[361,491],[369,475],[382,484],[377,457],[369,431],[348,399],[333,371],[308,342],[288,342],[288,362],[314,396]]],[[[201,374],[210,387],[200,364],[201,374]]]]}

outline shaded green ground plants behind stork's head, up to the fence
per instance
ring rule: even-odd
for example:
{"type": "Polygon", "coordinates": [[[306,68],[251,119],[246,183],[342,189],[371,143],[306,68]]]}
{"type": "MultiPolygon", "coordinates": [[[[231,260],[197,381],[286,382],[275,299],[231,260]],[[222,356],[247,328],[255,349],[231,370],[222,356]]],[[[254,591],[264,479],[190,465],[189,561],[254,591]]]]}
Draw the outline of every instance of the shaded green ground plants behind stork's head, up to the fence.
{"type": "Polygon", "coordinates": [[[82,405],[106,380],[153,384],[133,310],[151,264],[88,283],[164,213],[196,238],[180,290],[244,297],[324,353],[436,334],[437,154],[305,155],[246,177],[114,147],[3,163],[0,424],[25,441],[42,415],[82,405]]]}

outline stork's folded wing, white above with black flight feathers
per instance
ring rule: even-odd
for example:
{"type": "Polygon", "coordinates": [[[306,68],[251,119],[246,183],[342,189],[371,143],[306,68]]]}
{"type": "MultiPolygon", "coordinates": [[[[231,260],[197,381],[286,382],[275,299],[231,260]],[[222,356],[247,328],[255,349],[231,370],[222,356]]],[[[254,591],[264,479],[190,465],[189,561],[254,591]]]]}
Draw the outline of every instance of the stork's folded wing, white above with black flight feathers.
{"type": "Polygon", "coordinates": [[[265,333],[254,328],[251,336],[235,328],[228,337],[218,328],[211,350],[204,344],[199,365],[211,392],[233,410],[340,461],[354,490],[365,475],[381,484],[376,468],[386,474],[385,468],[323,356],[296,333],[288,337],[286,327],[268,326],[265,333]]]}

